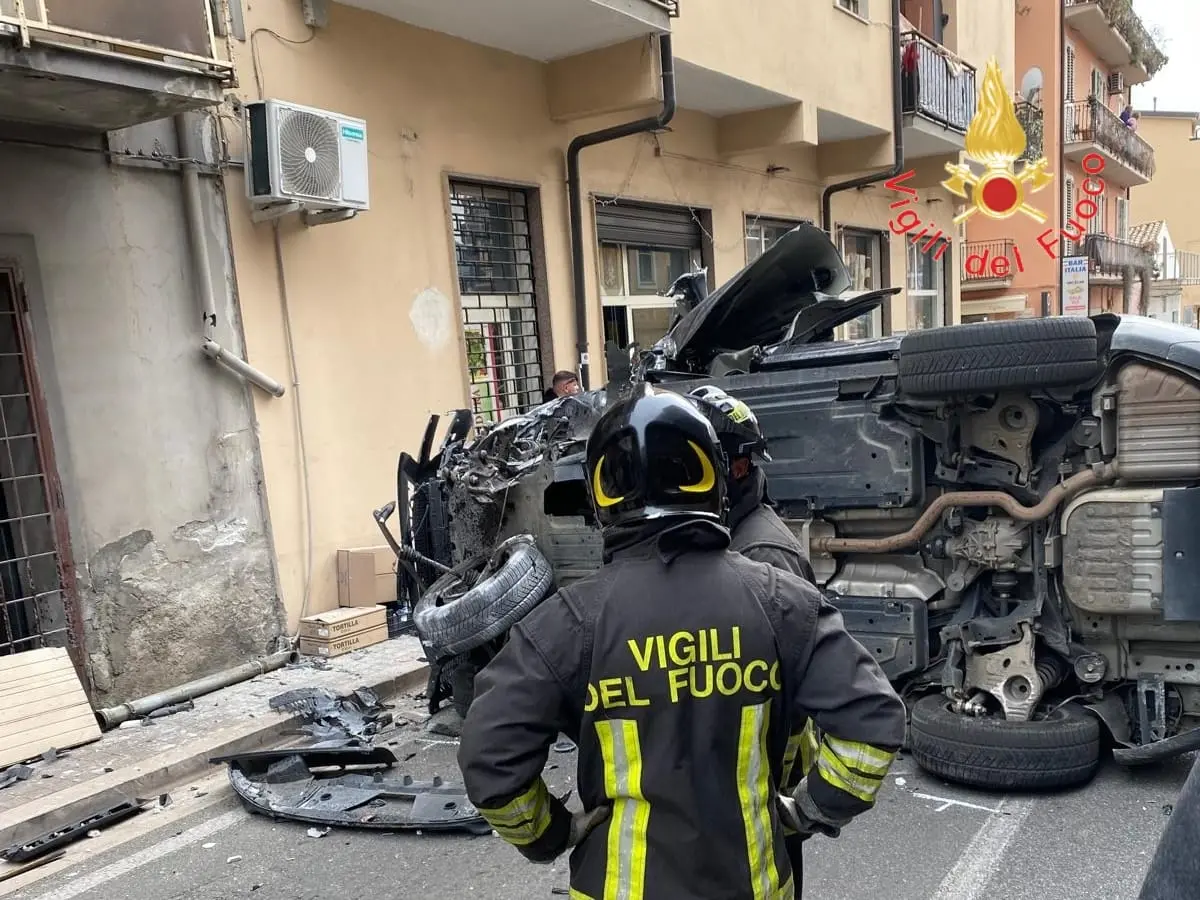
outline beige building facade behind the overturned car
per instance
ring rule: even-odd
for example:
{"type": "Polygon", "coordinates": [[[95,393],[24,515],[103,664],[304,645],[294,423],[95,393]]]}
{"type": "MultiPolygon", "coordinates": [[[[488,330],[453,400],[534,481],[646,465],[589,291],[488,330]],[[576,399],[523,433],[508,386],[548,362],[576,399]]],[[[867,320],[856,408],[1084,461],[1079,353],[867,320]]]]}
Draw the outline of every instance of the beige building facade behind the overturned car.
{"type": "MultiPolygon", "coordinates": [[[[238,178],[227,182],[250,360],[299,385],[256,394],[292,626],[336,604],[337,548],[378,542],[371,510],[394,493],[396,457],[415,451],[430,414],[473,403],[494,419],[540,400],[553,371],[577,368],[564,155],[576,134],[656,112],[659,35],[672,35],[677,114],[581,158],[593,386],[606,341],[662,335],[670,308],[656,294],[674,276],[706,265],[715,288],[781,230],[820,223],[824,186],[892,162],[888,4],[743,14],[688,0],[678,17],[648,0],[559,6],[569,14],[554,16],[589,28],[532,0],[457,12],[331,4],[316,28],[288,0],[246,12],[238,97],[352,115],[370,140],[371,209],[352,221],[256,223],[238,178]]],[[[930,47],[931,74],[905,137],[922,220],[952,235],[954,205],[937,184],[973,106],[946,55],[972,77],[992,54],[1010,67],[1014,19],[1010,0],[946,6],[942,40],[965,58],[906,35],[930,47]]],[[[235,142],[236,128],[226,133],[235,142]]],[[[895,199],[882,184],[833,197],[856,287],[905,287],[851,336],[960,316],[953,247],[937,263],[913,252],[889,229],[895,199]]]]}

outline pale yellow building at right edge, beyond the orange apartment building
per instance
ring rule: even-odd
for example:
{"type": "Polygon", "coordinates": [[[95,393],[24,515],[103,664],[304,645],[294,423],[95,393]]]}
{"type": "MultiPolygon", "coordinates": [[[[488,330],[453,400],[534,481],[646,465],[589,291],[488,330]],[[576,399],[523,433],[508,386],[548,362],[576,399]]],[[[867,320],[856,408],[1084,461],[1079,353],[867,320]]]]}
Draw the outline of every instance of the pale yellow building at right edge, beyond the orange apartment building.
{"type": "Polygon", "coordinates": [[[1138,133],[1154,148],[1154,180],[1134,187],[1133,239],[1154,254],[1150,314],[1200,324],[1200,208],[1188,186],[1200,172],[1200,113],[1139,110],[1138,133]]]}

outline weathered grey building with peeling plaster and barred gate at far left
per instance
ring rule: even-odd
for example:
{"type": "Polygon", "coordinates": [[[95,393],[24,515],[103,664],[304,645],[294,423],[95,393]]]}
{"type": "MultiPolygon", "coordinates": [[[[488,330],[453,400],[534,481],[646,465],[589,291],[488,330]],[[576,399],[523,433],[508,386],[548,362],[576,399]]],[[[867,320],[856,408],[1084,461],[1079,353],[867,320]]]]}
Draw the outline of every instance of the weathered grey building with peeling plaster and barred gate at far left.
{"type": "Polygon", "coordinates": [[[66,646],[98,702],[284,623],[253,406],[204,353],[242,353],[196,124],[232,22],[154,7],[0,2],[0,654],[66,646]]]}

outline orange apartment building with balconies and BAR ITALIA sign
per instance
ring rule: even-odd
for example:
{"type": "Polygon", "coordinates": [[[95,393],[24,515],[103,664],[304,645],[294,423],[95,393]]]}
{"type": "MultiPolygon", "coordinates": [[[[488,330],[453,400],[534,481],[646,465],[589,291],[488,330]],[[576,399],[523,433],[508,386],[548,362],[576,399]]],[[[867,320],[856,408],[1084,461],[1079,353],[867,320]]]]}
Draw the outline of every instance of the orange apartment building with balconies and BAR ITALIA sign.
{"type": "Polygon", "coordinates": [[[1136,312],[1153,260],[1129,240],[1129,191],[1156,163],[1126,109],[1165,58],[1129,0],[1019,0],[1014,31],[1022,160],[1044,156],[1055,188],[1031,196],[1038,218],[967,223],[964,319],[1136,312]],[[996,257],[1012,264],[979,264],[996,257]]]}

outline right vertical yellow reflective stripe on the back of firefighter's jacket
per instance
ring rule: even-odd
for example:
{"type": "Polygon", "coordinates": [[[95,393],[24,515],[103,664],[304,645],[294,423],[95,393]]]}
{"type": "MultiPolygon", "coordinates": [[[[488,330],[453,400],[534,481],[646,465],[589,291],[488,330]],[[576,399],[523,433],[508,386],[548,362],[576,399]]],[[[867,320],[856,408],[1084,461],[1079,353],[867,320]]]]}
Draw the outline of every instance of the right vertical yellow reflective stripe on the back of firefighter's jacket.
{"type": "Polygon", "coordinates": [[[780,894],[775,868],[775,830],[772,818],[774,793],[767,757],[770,703],[742,708],[738,737],[738,798],[746,832],[746,853],[755,900],[775,900],[780,894]]]}

